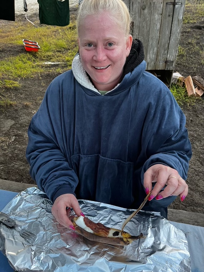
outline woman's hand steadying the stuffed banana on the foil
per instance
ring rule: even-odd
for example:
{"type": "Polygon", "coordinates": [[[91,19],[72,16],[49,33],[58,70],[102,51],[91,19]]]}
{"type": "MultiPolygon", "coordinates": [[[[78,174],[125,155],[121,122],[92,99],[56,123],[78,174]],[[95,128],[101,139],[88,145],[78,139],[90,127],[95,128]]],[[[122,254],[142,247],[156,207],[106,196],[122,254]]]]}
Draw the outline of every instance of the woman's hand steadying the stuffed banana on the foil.
{"type": "Polygon", "coordinates": [[[58,196],[52,206],[52,214],[55,219],[64,227],[75,229],[71,220],[69,219],[70,208],[73,208],[77,216],[84,216],[79,207],[78,200],[73,194],[64,194],[58,196]],[[69,208],[69,209],[67,209],[69,208]]]}

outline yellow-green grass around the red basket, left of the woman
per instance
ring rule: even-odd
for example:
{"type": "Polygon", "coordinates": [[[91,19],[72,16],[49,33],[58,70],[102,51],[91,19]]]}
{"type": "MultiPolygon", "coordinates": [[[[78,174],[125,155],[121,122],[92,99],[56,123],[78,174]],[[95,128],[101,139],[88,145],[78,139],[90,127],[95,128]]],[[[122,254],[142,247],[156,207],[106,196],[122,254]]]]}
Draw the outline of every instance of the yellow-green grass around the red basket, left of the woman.
{"type": "Polygon", "coordinates": [[[59,72],[71,68],[71,61],[78,50],[75,21],[63,28],[47,25],[35,28],[27,22],[17,28],[17,24],[10,26],[9,31],[1,29],[1,44],[6,46],[9,43],[23,48],[22,39],[25,38],[38,41],[40,49],[35,53],[22,50],[17,56],[0,61],[0,88],[8,85],[4,79],[18,80],[51,72],[51,66],[43,65],[46,61],[64,63],[64,68],[58,68],[59,72]]]}

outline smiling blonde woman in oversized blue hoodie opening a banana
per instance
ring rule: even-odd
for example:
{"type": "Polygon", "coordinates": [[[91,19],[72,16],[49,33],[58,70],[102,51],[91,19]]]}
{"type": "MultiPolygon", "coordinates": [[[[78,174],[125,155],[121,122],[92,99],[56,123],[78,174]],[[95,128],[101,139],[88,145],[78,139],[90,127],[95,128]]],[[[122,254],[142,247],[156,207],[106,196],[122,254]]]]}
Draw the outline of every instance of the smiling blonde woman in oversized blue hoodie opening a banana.
{"type": "Polygon", "coordinates": [[[77,199],[137,209],[152,191],[143,209],[167,217],[188,193],[185,116],[145,71],[130,22],[122,0],[81,3],[72,70],[52,81],[28,129],[31,176],[66,227],[74,228],[67,207],[83,215],[77,199]]]}

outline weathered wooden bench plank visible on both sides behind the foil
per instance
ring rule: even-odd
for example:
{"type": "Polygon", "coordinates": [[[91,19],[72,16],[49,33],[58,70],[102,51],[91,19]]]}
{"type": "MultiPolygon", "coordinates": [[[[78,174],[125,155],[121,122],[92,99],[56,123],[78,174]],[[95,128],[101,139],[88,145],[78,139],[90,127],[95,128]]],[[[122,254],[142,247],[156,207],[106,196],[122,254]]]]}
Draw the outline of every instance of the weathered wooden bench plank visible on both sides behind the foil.
{"type": "MultiPolygon", "coordinates": [[[[38,188],[36,184],[20,183],[11,180],[0,179],[0,189],[6,191],[13,191],[19,193],[33,186],[38,188]]],[[[168,220],[178,223],[204,227],[204,214],[202,213],[168,209],[168,220]]]]}

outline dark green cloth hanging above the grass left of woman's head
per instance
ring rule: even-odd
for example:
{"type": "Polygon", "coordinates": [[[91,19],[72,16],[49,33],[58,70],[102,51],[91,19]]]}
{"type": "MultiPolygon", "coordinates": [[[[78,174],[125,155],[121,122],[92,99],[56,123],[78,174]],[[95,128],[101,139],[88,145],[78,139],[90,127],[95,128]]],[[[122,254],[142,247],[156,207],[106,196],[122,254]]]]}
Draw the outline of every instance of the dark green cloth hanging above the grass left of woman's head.
{"type": "Polygon", "coordinates": [[[69,24],[69,0],[38,0],[41,24],[66,26],[69,24]]]}

